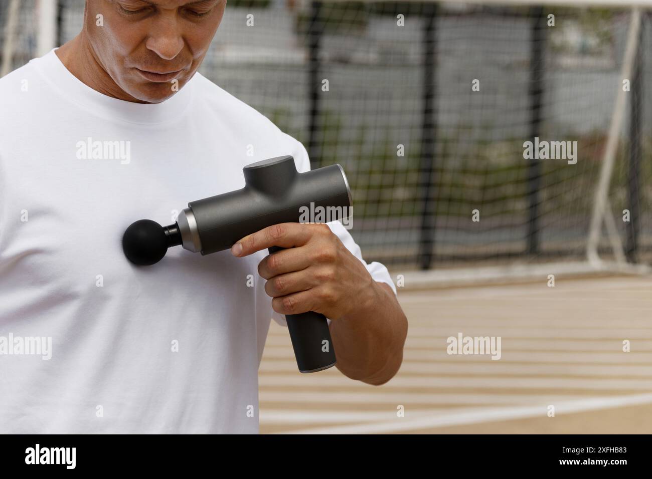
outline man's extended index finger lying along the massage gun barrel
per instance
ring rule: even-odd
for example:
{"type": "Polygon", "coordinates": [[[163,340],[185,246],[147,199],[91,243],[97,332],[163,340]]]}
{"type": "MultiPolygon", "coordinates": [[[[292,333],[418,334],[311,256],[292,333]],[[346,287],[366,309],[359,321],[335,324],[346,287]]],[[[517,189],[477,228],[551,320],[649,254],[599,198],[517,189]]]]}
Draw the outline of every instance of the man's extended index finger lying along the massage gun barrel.
{"type": "Polygon", "coordinates": [[[238,240],[231,246],[231,253],[234,256],[246,256],[272,246],[280,248],[302,246],[310,238],[310,228],[306,226],[301,223],[280,223],[268,226],[238,240]]]}

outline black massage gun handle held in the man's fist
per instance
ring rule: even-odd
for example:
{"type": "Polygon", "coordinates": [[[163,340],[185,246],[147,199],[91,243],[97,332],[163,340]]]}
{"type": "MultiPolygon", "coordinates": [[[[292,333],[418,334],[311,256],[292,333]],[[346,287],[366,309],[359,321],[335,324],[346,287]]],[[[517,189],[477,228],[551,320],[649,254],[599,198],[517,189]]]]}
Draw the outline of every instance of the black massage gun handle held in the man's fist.
{"type": "MultiPolygon", "coordinates": [[[[273,254],[283,249],[272,246],[268,251],[273,254]]],[[[286,314],[286,322],[299,371],[316,373],[335,365],[333,340],[328,321],[323,314],[314,311],[286,314]]]]}

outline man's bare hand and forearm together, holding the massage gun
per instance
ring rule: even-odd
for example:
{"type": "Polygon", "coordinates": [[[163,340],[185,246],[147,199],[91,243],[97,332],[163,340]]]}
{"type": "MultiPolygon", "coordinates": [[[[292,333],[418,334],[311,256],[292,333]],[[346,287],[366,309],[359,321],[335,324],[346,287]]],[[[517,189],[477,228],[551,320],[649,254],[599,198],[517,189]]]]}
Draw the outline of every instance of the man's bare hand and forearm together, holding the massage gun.
{"type": "Polygon", "coordinates": [[[270,226],[239,240],[231,252],[246,256],[271,246],[291,248],[258,265],[274,311],[315,311],[334,320],[338,370],[371,385],[387,383],[401,366],[408,334],[391,287],[374,281],[327,224],[270,226]]]}

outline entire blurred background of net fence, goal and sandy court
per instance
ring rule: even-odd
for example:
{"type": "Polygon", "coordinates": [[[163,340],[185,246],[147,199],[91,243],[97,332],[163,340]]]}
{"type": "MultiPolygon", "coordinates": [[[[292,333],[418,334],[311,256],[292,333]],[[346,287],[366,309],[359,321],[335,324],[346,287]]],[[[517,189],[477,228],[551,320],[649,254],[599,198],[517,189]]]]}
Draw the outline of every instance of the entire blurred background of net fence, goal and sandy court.
{"type": "MultiPolygon", "coordinates": [[[[0,74],[83,7],[0,0],[0,74]]],[[[228,0],[201,74],[344,167],[351,234],[410,324],[376,387],[301,375],[273,323],[261,432],[652,431],[647,7],[228,0]],[[576,141],[576,164],[524,158],[535,137],[576,141]],[[502,338],[501,359],[447,354],[460,333],[502,338]]]]}

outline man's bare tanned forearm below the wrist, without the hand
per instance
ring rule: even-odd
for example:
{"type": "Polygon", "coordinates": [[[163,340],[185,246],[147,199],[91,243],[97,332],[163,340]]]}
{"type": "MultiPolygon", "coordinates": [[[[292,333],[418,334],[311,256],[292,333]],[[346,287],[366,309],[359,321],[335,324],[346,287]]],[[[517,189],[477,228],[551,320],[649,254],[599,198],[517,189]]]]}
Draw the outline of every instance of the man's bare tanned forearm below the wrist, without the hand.
{"type": "Polygon", "coordinates": [[[337,368],[371,385],[387,383],[403,361],[408,319],[391,287],[372,280],[359,306],[331,321],[337,368]]]}

